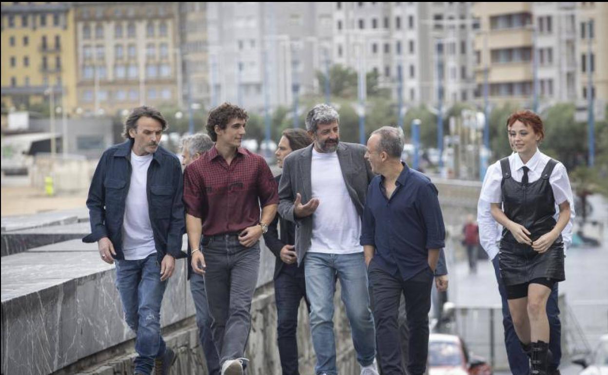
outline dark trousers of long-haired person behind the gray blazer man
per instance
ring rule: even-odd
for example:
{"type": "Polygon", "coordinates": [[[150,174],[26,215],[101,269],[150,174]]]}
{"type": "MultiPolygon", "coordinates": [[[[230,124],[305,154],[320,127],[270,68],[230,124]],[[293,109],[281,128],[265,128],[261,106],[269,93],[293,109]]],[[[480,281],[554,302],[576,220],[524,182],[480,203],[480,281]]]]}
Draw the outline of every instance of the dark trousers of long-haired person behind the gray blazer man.
{"type": "MultiPolygon", "coordinates": [[[[274,297],[277,303],[277,342],[283,375],[299,375],[298,371],[298,309],[304,298],[306,306],[306,279],[304,273],[292,275],[281,272],[274,280],[274,297]]],[[[310,309],[310,308],[309,308],[310,309]]]]}

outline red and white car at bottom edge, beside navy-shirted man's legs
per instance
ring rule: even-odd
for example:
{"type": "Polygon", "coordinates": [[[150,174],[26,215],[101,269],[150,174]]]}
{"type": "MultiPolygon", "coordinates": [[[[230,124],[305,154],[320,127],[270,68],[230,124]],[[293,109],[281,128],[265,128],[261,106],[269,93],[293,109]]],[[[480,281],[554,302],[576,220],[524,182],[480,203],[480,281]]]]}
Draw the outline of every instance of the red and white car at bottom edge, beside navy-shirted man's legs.
{"type": "Polygon", "coordinates": [[[429,375],[492,375],[492,368],[457,335],[430,334],[429,375]]]}

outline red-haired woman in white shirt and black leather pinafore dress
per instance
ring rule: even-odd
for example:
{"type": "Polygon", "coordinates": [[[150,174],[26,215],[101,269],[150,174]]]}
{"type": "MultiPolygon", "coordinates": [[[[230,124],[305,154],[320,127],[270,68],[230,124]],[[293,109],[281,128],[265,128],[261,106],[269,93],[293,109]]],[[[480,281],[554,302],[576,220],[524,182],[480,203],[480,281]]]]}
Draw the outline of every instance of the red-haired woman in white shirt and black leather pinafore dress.
{"type": "Polygon", "coordinates": [[[572,188],[564,165],[538,149],[544,128],[537,114],[517,111],[506,128],[515,152],[488,169],[480,200],[503,226],[500,276],[530,374],[545,375],[554,373],[546,306],[554,284],[565,280],[561,233],[573,217],[572,188]]]}

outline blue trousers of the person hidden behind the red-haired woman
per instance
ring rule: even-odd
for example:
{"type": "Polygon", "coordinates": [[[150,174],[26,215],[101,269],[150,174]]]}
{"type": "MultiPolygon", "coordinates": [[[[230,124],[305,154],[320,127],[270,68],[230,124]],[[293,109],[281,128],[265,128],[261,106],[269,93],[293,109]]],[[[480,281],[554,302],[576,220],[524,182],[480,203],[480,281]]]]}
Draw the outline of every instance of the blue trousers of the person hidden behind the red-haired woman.
{"type": "MultiPolygon", "coordinates": [[[[502,325],[505,329],[505,347],[509,367],[513,375],[528,375],[530,374],[530,362],[519,345],[519,338],[513,327],[513,319],[511,319],[511,312],[506,301],[505,284],[500,277],[498,256],[494,256],[492,265],[494,266],[500,299],[502,300],[502,325]]],[[[553,361],[549,363],[549,366],[558,368],[562,359],[562,325],[559,322],[558,283],[553,284],[553,289],[551,289],[551,294],[547,300],[547,317],[549,320],[549,349],[553,353],[553,361]]]]}

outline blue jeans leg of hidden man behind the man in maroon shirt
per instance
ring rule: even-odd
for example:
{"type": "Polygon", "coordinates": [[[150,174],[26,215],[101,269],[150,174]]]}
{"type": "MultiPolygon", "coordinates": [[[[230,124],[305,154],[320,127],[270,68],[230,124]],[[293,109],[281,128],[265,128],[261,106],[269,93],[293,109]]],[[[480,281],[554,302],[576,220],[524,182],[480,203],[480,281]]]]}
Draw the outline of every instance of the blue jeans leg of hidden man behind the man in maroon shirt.
{"type": "Polygon", "coordinates": [[[205,279],[194,272],[190,276],[190,292],[196,309],[196,326],[198,326],[198,336],[201,342],[202,351],[207,360],[207,370],[209,375],[219,375],[219,356],[218,350],[213,343],[211,332],[212,318],[209,314],[207,305],[207,293],[205,292],[205,279]]]}

